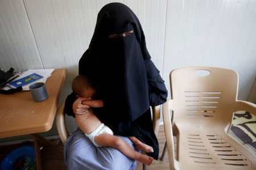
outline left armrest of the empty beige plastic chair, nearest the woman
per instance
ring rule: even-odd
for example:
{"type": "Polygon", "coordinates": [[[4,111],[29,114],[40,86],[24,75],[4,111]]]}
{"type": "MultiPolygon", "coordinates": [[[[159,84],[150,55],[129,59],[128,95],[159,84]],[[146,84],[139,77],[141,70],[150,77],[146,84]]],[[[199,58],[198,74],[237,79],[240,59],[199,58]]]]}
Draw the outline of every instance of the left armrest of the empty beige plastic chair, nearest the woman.
{"type": "Polygon", "coordinates": [[[175,160],[174,156],[174,136],[172,134],[172,121],[170,116],[170,110],[172,110],[172,100],[167,100],[166,103],[163,104],[164,132],[166,134],[166,145],[168,148],[170,169],[174,170],[179,169],[179,162],[175,160]]]}

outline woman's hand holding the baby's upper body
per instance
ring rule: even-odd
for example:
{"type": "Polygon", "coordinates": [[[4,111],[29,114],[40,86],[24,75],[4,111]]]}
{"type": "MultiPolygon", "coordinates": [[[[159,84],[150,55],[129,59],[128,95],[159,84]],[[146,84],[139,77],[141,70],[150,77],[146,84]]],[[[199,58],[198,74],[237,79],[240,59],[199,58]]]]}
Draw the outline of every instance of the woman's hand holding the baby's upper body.
{"type": "Polygon", "coordinates": [[[73,103],[73,112],[75,114],[85,114],[86,112],[88,112],[88,109],[90,108],[89,105],[82,104],[82,101],[90,99],[90,97],[78,97],[73,103]]]}

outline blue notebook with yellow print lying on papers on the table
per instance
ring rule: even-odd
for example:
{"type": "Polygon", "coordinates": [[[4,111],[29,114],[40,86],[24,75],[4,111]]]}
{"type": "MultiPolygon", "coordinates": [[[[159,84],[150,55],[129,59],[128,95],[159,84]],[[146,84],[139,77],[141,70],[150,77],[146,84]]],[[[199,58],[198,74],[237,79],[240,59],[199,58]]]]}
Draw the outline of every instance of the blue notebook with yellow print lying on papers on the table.
{"type": "Polygon", "coordinates": [[[39,74],[36,74],[36,73],[33,73],[33,74],[25,76],[21,79],[15,80],[15,81],[10,82],[10,83],[7,83],[7,84],[5,84],[5,86],[10,87],[10,88],[17,88],[19,86],[24,86],[26,84],[32,83],[35,80],[38,80],[40,78],[43,78],[43,76],[39,75],[39,74]]]}

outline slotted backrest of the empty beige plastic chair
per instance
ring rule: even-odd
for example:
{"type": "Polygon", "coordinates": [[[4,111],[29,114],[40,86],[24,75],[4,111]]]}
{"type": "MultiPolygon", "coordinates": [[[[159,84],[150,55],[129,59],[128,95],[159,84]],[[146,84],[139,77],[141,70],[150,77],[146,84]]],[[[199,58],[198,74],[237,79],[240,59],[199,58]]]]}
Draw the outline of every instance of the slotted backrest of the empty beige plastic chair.
{"type": "Polygon", "coordinates": [[[237,100],[238,74],[217,67],[184,67],[170,73],[175,124],[229,130],[237,100]],[[207,70],[209,75],[197,75],[207,70]],[[175,114],[177,113],[177,114],[175,114]]]}

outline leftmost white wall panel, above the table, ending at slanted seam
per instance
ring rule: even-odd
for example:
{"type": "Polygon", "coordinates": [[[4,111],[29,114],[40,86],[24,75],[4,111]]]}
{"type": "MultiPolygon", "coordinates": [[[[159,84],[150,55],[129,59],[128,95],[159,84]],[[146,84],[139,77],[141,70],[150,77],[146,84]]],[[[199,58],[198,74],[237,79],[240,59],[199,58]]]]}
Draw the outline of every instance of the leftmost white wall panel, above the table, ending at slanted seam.
{"type": "Polygon", "coordinates": [[[0,67],[41,69],[42,62],[23,2],[0,1],[0,67]]]}

